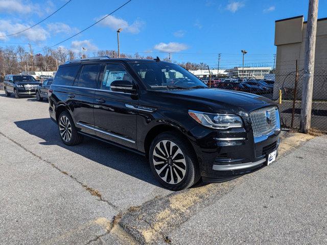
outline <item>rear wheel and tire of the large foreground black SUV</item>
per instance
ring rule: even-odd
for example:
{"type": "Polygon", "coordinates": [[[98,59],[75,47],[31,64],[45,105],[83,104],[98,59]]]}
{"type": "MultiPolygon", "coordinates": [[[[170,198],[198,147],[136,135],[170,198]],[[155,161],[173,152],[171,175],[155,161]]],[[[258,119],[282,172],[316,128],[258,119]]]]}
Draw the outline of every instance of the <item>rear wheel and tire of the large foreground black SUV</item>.
{"type": "Polygon", "coordinates": [[[66,145],[79,144],[83,139],[83,136],[77,133],[73,118],[67,111],[61,112],[58,117],[58,131],[62,142],[64,142],[66,145]]]}

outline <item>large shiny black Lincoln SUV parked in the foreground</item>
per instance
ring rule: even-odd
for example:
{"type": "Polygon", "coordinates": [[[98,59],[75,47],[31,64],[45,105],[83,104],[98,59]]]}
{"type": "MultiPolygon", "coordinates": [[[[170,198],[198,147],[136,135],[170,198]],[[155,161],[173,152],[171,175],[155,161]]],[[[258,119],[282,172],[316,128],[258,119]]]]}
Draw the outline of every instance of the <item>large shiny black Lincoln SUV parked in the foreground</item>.
{"type": "Polygon", "coordinates": [[[209,89],[159,58],[98,57],[63,64],[49,103],[65,144],[78,144],[86,135],[144,155],[157,180],[172,190],[268,165],[281,131],[272,101],[209,89]]]}

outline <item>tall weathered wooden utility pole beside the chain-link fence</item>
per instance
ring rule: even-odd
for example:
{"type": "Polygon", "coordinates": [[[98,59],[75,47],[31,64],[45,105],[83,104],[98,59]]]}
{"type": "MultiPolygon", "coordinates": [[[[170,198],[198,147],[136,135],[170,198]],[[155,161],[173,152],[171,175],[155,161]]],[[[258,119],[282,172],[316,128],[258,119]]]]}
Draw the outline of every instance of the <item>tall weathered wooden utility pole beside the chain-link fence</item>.
{"type": "Polygon", "coordinates": [[[305,66],[302,85],[301,130],[307,133],[311,127],[312,91],[315,67],[318,0],[309,0],[305,66]]]}

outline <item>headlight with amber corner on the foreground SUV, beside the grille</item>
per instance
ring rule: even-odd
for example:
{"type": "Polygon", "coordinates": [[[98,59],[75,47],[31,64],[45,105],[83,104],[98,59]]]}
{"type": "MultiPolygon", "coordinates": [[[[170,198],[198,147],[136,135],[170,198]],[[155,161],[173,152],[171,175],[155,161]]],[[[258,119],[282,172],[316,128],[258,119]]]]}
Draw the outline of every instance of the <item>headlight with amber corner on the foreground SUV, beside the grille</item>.
{"type": "Polygon", "coordinates": [[[189,115],[205,127],[213,129],[242,128],[241,117],[233,114],[205,113],[189,110],[189,115]]]}

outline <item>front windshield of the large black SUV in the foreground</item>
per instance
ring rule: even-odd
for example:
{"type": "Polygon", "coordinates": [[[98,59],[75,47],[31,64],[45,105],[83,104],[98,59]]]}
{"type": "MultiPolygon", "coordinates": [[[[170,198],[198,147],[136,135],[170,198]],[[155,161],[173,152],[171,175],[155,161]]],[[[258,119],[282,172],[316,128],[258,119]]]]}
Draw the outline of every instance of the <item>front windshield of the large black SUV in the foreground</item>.
{"type": "Polygon", "coordinates": [[[207,87],[179,65],[168,62],[131,62],[138,76],[150,89],[207,87]]]}

